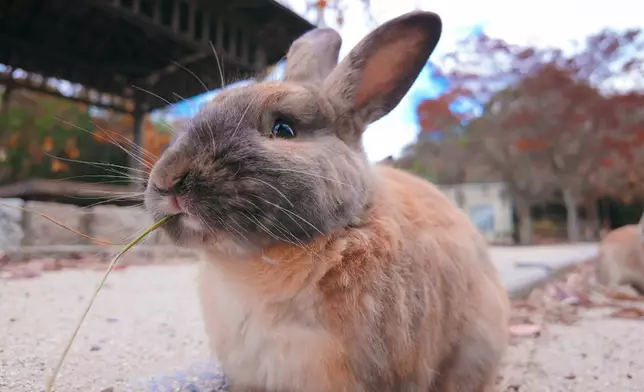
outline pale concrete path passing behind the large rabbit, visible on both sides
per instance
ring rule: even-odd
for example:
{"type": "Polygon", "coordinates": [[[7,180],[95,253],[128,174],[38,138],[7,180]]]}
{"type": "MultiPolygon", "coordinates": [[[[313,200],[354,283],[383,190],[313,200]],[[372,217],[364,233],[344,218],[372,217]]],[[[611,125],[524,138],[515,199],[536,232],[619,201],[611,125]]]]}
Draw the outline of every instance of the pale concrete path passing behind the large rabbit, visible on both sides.
{"type": "MultiPolygon", "coordinates": [[[[571,245],[494,248],[492,254],[509,290],[518,292],[546,272],[516,261],[559,268],[595,251],[571,245]]],[[[57,391],[218,391],[222,380],[207,360],[195,274],[195,264],[115,271],[69,353],[57,391]],[[191,382],[208,389],[185,388],[191,382]]],[[[42,390],[100,277],[99,271],[63,270],[0,280],[0,391],[42,390]]]]}

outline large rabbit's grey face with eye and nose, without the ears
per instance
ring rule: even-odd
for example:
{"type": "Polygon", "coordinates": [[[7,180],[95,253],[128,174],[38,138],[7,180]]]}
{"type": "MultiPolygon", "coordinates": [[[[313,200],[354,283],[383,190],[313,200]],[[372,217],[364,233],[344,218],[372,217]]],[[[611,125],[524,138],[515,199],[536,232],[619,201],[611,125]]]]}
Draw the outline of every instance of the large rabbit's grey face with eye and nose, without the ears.
{"type": "Polygon", "coordinates": [[[303,244],[346,225],[367,192],[364,155],[332,129],[314,86],[270,82],[207,104],[154,166],[145,203],[177,244],[303,244]]]}

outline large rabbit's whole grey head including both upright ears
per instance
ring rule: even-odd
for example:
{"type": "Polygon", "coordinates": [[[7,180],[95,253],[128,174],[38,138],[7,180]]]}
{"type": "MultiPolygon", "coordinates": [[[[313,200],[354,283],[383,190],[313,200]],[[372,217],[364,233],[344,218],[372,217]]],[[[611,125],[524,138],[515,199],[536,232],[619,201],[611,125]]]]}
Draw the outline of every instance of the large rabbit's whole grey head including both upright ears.
{"type": "MultiPolygon", "coordinates": [[[[301,246],[358,220],[374,178],[365,125],[391,111],[436,47],[440,18],[416,12],[363,39],[315,29],[287,56],[285,82],[220,93],[154,166],[146,206],[183,245],[301,246]]],[[[395,132],[395,130],[392,130],[395,132]]]]}

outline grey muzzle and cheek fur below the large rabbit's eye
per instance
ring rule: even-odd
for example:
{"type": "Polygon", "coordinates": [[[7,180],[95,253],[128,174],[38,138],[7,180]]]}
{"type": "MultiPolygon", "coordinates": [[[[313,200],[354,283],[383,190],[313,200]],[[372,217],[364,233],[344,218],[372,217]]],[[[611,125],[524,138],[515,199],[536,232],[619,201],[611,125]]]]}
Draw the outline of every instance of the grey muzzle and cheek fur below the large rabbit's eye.
{"type": "Polygon", "coordinates": [[[363,155],[331,134],[269,139],[251,125],[241,123],[238,138],[213,142],[193,123],[153,168],[146,204],[156,219],[169,203],[153,184],[182,178],[176,193],[185,214],[164,227],[177,244],[301,245],[362,215],[373,178],[363,155]]]}

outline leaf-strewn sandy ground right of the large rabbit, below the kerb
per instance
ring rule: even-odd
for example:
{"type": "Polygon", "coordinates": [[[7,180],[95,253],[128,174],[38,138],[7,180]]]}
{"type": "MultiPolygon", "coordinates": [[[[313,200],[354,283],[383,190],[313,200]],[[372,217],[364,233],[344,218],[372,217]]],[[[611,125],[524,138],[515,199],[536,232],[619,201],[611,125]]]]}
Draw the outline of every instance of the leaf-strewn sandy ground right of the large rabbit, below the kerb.
{"type": "Polygon", "coordinates": [[[644,298],[594,282],[585,263],[514,301],[500,391],[644,391],[644,298]]]}

